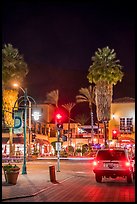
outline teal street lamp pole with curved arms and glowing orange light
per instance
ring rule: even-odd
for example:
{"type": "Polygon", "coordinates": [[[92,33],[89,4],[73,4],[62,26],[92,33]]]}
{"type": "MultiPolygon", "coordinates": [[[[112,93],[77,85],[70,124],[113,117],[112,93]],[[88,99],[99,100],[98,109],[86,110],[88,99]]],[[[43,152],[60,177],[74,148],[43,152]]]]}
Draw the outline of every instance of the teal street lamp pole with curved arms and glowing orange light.
{"type": "MultiPolygon", "coordinates": [[[[30,107],[30,104],[31,104],[30,99],[32,99],[35,104],[36,104],[36,102],[31,96],[27,95],[27,88],[23,89],[18,84],[13,84],[13,86],[19,87],[24,93],[24,96],[21,96],[19,99],[17,99],[17,101],[19,101],[21,98],[24,98],[24,100],[23,100],[24,101],[24,107],[23,107],[23,109],[24,109],[24,158],[23,158],[22,174],[27,174],[27,167],[26,167],[27,101],[29,101],[29,109],[31,108],[30,107]]],[[[14,108],[16,107],[16,102],[14,104],[14,108]]],[[[21,102],[22,102],[22,100],[21,100],[21,102]]],[[[31,117],[31,115],[29,114],[29,118],[30,117],[31,117]]],[[[30,128],[30,123],[29,123],[29,128],[30,128]]],[[[30,136],[30,132],[29,132],[29,136],[30,136]]],[[[29,140],[30,140],[30,138],[29,138],[29,140]]]]}

